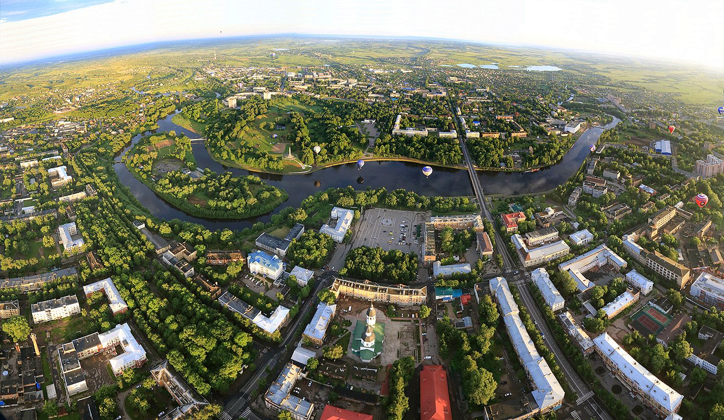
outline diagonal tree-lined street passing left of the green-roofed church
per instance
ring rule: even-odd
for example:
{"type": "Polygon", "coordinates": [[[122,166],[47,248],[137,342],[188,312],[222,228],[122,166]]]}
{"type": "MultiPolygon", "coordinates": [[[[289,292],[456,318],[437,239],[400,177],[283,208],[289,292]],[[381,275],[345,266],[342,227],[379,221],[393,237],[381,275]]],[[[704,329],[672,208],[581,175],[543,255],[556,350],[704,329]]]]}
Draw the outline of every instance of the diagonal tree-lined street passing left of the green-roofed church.
{"type": "MultiPolygon", "coordinates": [[[[318,281],[316,282],[316,287],[309,294],[311,298],[308,298],[306,303],[304,303],[304,305],[299,309],[297,319],[294,324],[291,324],[287,328],[287,335],[285,335],[284,340],[282,340],[282,342],[279,343],[276,348],[266,347],[266,351],[264,350],[264,348],[260,349],[259,353],[261,354],[261,356],[258,357],[258,360],[256,361],[256,371],[254,372],[253,376],[248,380],[248,382],[246,382],[245,385],[243,385],[235,395],[227,400],[224,409],[221,413],[219,413],[219,419],[230,420],[236,419],[237,416],[243,416],[249,420],[263,419],[253,413],[253,411],[248,409],[250,408],[247,406],[249,396],[254,392],[254,390],[256,390],[259,381],[266,376],[266,374],[268,373],[267,369],[274,369],[274,366],[279,361],[279,358],[285,355],[287,345],[289,345],[292,341],[292,338],[294,337],[295,332],[299,327],[299,324],[302,322],[303,319],[306,318],[307,312],[310,311],[311,308],[314,308],[316,306],[316,294],[323,287],[328,287],[332,283],[332,281],[334,281],[334,276],[336,275],[337,272],[329,271],[324,272],[324,274],[321,274],[317,278],[318,281]]],[[[255,342],[255,347],[257,345],[258,343],[255,342]]]]}

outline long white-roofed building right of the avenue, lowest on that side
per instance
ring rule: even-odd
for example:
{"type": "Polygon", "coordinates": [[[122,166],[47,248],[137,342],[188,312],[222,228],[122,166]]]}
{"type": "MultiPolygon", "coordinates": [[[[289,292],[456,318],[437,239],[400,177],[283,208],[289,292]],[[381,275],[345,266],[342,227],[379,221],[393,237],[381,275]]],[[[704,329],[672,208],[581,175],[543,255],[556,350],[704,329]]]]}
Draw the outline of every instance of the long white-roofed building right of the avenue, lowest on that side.
{"type": "Polygon", "coordinates": [[[594,338],[593,341],[596,345],[596,353],[599,354],[611,373],[629,390],[638,395],[644,404],[652,408],[659,416],[681,420],[681,416],[678,416],[676,411],[681,406],[683,395],[641,366],[607,332],[594,338]]]}

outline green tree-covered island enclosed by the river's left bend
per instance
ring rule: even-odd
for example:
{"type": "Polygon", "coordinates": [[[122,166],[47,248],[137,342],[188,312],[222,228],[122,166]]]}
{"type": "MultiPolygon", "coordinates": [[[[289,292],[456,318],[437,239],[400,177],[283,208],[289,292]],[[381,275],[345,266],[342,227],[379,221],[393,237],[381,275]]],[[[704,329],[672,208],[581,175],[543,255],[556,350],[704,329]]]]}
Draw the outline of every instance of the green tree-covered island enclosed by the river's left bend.
{"type": "Polygon", "coordinates": [[[141,139],[125,157],[125,164],[154,193],[197,217],[255,217],[288,198],[284,190],[253,175],[235,177],[196,167],[191,140],[173,131],[141,139]]]}

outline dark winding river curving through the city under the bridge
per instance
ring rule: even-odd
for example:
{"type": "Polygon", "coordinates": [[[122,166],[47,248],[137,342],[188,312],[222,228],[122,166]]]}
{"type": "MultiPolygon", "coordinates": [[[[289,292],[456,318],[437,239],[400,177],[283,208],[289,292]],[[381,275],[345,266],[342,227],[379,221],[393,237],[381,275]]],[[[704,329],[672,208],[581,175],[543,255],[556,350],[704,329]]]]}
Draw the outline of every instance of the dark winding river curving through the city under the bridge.
{"type": "MultiPolygon", "coordinates": [[[[172,122],[172,115],[159,120],[158,131],[174,130],[176,133],[183,133],[189,138],[200,138],[193,131],[187,130],[180,125],[172,122]]],[[[606,128],[613,127],[620,120],[614,119],[606,128]]],[[[523,194],[523,193],[539,193],[551,190],[557,185],[568,180],[573,172],[581,166],[586,156],[589,155],[589,148],[596,143],[599,136],[604,132],[603,128],[592,127],[581,135],[576,144],[568,151],[563,159],[547,169],[541,169],[537,172],[495,172],[481,171],[478,172],[481,184],[487,194],[523,194]]],[[[146,206],[148,211],[159,219],[182,219],[188,222],[202,224],[210,230],[229,228],[232,230],[241,230],[251,226],[255,222],[269,222],[271,214],[287,206],[299,206],[301,201],[318,190],[324,190],[330,187],[346,187],[352,185],[355,188],[379,188],[384,187],[387,190],[395,188],[404,188],[411,190],[424,196],[472,196],[473,188],[468,177],[468,172],[464,169],[447,169],[434,167],[434,172],[430,177],[425,177],[421,172],[422,165],[411,164],[401,161],[369,161],[365,166],[358,170],[355,164],[343,164],[335,167],[320,169],[316,172],[303,175],[275,175],[261,172],[254,172],[247,169],[238,169],[225,167],[219,162],[214,161],[206,151],[204,143],[192,143],[193,156],[196,164],[201,168],[209,168],[214,172],[229,171],[234,175],[256,175],[269,185],[282,188],[289,194],[289,199],[282,203],[277,209],[270,214],[254,217],[244,220],[219,220],[204,219],[201,217],[193,217],[185,214],[183,211],[176,209],[169,203],[161,199],[151,188],[148,188],[143,182],[135,179],[130,171],[121,162],[124,156],[143,136],[151,134],[150,132],[135,135],[131,143],[126,146],[116,157],[114,170],[118,175],[121,183],[130,188],[133,196],[146,206]]]]}

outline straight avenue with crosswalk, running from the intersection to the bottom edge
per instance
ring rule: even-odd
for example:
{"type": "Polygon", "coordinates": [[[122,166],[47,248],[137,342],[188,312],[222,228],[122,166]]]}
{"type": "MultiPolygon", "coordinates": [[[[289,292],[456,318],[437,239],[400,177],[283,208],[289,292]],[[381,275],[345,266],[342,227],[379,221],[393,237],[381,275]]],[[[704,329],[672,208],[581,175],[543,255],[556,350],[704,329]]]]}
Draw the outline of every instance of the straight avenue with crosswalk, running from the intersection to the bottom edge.
{"type": "MultiPolygon", "coordinates": [[[[578,372],[576,372],[576,370],[573,369],[573,366],[568,363],[568,359],[565,358],[563,351],[561,351],[558,347],[558,343],[553,340],[553,333],[550,331],[550,329],[548,329],[548,325],[545,323],[545,319],[538,310],[538,306],[533,300],[533,296],[529,292],[526,282],[516,282],[516,285],[518,285],[518,290],[521,292],[521,299],[523,299],[523,303],[525,304],[526,308],[528,308],[528,313],[531,314],[534,321],[538,323],[538,328],[541,330],[541,333],[545,337],[543,341],[546,343],[547,347],[550,348],[550,350],[553,352],[558,366],[560,366],[560,369],[563,370],[563,374],[565,376],[565,379],[568,381],[568,385],[571,385],[571,389],[576,391],[578,397],[590,395],[591,388],[589,388],[588,385],[586,385],[586,382],[584,382],[584,380],[578,376],[578,372]]],[[[603,410],[601,406],[599,406],[599,403],[597,402],[595,397],[588,398],[582,403],[578,404],[575,410],[585,411],[589,416],[592,417],[592,419],[611,420],[611,417],[608,415],[608,413],[603,410]]]]}

